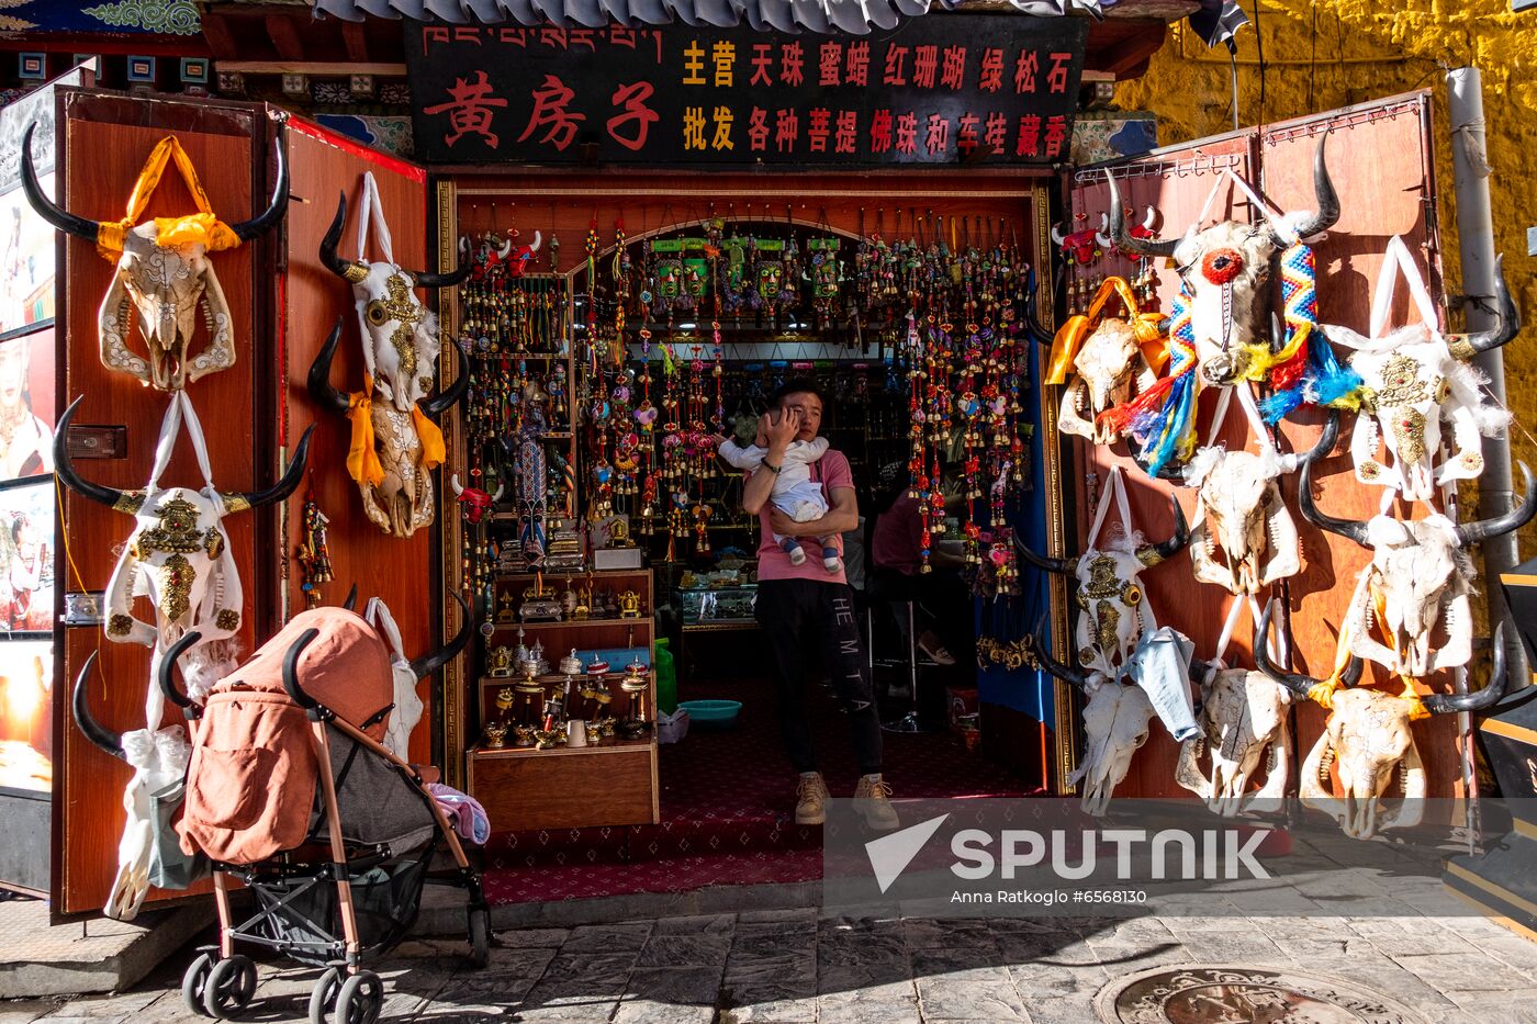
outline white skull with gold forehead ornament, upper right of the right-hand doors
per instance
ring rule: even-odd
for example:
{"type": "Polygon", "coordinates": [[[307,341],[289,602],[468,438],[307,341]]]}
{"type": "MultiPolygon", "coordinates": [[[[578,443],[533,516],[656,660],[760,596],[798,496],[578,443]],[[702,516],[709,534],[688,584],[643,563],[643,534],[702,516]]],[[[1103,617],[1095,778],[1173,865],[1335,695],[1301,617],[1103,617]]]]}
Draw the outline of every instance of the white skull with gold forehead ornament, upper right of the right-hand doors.
{"type": "Polygon", "coordinates": [[[1520,332],[1503,272],[1496,275],[1496,304],[1499,326],[1449,340],[1423,323],[1376,340],[1348,327],[1323,327],[1331,341],[1356,349],[1349,366],[1365,384],[1363,415],[1351,437],[1357,480],[1391,487],[1411,501],[1429,501],[1437,487],[1483,472],[1480,437],[1502,434],[1511,415],[1483,400],[1488,380],[1465,360],[1520,332]],[[1443,421],[1451,426],[1452,452],[1437,466],[1443,421]],[[1386,441],[1386,460],[1380,458],[1380,441],[1386,441]]]}

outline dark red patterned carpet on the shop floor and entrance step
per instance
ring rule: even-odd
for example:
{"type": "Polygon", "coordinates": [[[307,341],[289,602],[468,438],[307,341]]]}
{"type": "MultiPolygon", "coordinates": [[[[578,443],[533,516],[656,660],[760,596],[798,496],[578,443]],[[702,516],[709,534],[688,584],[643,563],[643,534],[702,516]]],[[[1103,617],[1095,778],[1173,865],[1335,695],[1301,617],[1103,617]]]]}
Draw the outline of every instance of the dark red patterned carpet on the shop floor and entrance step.
{"type": "MultiPolygon", "coordinates": [[[[749,680],[698,689],[681,700],[739,700],[742,713],[736,729],[695,726],[682,743],[661,747],[661,824],[496,833],[486,846],[492,903],[821,878],[822,829],[793,821],[796,780],[779,747],[772,686],[749,680]]],[[[858,769],[847,724],[832,695],[813,689],[822,773],[835,796],[848,796],[858,769]]],[[[898,800],[1033,792],[948,732],[885,733],[885,780],[898,800]]]]}

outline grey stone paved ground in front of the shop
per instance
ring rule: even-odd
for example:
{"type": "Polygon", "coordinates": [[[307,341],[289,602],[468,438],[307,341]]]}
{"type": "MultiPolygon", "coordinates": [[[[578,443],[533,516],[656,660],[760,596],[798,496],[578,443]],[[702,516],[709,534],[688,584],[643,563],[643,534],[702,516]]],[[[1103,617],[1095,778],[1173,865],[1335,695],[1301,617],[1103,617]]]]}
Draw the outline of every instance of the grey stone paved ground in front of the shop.
{"type": "MultiPolygon", "coordinates": [[[[1333,975],[1431,1021],[1537,1022],[1537,944],[1482,918],[848,919],[761,910],[413,939],[386,961],[383,1021],[938,1024],[1096,1021],[1114,978],[1165,964],[1333,975]]],[[[0,1024],[172,1024],[184,956],[134,992],[0,1002],[0,1024]]],[[[303,1019],[315,972],[267,964],[247,1021],[303,1019]]],[[[1230,1018],[1231,1019],[1231,1018],[1230,1018]]]]}

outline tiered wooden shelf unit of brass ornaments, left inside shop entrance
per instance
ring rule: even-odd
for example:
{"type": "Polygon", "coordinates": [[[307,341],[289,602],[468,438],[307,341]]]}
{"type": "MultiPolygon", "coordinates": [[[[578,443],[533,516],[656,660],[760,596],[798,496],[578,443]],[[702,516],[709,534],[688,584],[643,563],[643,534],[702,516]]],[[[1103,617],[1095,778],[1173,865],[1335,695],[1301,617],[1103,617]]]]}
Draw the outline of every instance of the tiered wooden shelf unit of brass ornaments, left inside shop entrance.
{"type": "Polygon", "coordinates": [[[650,570],[573,572],[569,577],[503,574],[493,580],[492,593],[496,617],[486,640],[487,675],[478,680],[475,692],[476,740],[467,753],[469,792],[486,807],[492,827],[583,829],[659,821],[655,726],[639,738],[624,738],[622,726],[635,713],[652,723],[655,720],[650,570]],[[563,607],[567,580],[570,593],[563,607]],[[541,598],[541,587],[553,597],[541,598]],[[633,610],[633,615],[621,617],[618,610],[607,615],[603,610],[609,606],[606,595],[613,597],[615,606],[629,606],[626,610],[633,610]],[[561,618],[521,621],[524,604],[541,600],[549,600],[553,607],[530,607],[535,617],[543,612],[561,618]],[[576,618],[584,612],[587,618],[576,618]],[[520,643],[527,649],[538,646],[546,663],[532,681],[513,661],[512,652],[520,643]],[[533,723],[543,715],[546,701],[563,697],[569,677],[559,672],[559,663],[572,650],[586,667],[595,660],[607,664],[607,672],[601,675],[583,672],[570,677],[572,692],[564,697],[564,716],[586,723],[587,746],[569,747],[564,741],[549,749],[515,746],[516,724],[533,723]],[[646,690],[632,698],[621,681],[636,658],[646,670],[632,673],[632,678],[644,678],[646,690]],[[598,678],[609,690],[606,703],[592,695],[598,678]],[[606,712],[593,713],[599,707],[606,712]],[[618,723],[609,738],[599,738],[593,729],[595,720],[604,716],[618,723]],[[487,743],[486,726],[490,723],[510,726],[501,747],[487,743]]]}

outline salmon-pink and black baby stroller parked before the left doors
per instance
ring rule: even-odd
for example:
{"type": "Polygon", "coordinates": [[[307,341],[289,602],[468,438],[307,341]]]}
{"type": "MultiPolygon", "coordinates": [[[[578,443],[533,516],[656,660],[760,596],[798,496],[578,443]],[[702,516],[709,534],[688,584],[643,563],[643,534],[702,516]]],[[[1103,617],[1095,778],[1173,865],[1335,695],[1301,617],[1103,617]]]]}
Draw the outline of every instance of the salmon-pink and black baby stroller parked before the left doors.
{"type": "MultiPolygon", "coordinates": [[[[469,607],[460,604],[464,627],[410,663],[418,680],[469,641],[469,607]]],[[[363,964],[406,935],[424,884],[467,892],[473,962],[486,966],[490,913],[480,870],[421,772],[380,743],[393,689],[375,629],[346,607],[295,615],[201,707],[169,670],[189,643],[168,652],[160,683],[194,732],[177,832],[183,850],[211,861],[220,932],[183,976],[188,1007],[227,1019],[251,1002],[255,964],[235,952],[249,943],[324,967],[309,999],[315,1024],[332,1012],[338,1024],[372,1024],[384,986],[363,964]],[[231,879],[251,892],[244,919],[232,909],[231,879]]]]}

